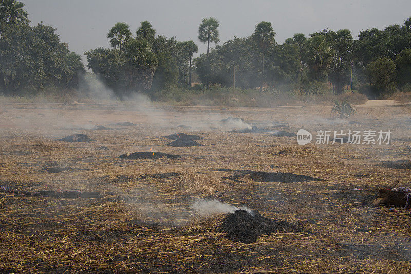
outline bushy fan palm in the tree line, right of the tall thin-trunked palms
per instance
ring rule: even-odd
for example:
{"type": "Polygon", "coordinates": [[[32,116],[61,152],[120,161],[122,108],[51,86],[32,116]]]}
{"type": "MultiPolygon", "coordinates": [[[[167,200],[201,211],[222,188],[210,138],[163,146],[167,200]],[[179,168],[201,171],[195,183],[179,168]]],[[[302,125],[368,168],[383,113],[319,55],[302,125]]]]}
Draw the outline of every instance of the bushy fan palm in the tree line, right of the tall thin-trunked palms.
{"type": "Polygon", "coordinates": [[[305,62],[309,67],[310,80],[324,80],[327,77],[334,51],[324,35],[317,34],[306,43],[305,62]]]}

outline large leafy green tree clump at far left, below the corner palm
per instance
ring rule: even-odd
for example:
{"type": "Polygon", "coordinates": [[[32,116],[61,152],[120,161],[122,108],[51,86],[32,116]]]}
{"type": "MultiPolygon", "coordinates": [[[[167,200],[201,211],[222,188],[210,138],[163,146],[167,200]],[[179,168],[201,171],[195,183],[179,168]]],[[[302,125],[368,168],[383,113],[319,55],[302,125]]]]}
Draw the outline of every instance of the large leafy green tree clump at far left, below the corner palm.
{"type": "Polygon", "coordinates": [[[7,94],[73,89],[84,73],[80,56],[70,53],[50,26],[2,26],[0,56],[0,90],[7,94]]]}

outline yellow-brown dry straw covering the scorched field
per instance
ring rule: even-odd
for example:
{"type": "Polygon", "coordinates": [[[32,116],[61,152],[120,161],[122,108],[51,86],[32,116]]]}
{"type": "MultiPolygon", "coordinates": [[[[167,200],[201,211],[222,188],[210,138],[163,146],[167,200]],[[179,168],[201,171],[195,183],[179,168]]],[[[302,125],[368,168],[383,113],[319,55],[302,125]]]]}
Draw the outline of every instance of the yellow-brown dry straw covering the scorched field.
{"type": "MultiPolygon", "coordinates": [[[[305,115],[304,111],[310,111],[325,116],[330,112],[330,108],[307,108],[287,108],[285,113],[305,115]]],[[[395,107],[387,111],[391,109],[400,111],[395,107]]],[[[14,109],[7,110],[2,114],[3,121],[7,121],[7,115],[17,116],[14,109]]],[[[35,114],[39,110],[27,111],[35,114]]],[[[64,111],[69,113],[70,109],[64,111]]],[[[100,106],[86,109],[87,115],[98,116],[101,111],[100,106]]],[[[281,111],[235,109],[230,110],[230,116],[282,121],[281,111]]],[[[135,112],[122,110],[115,118],[123,121],[124,115],[135,112]]],[[[199,112],[201,117],[203,110],[199,112]]],[[[378,111],[375,115],[380,118],[378,111]]],[[[137,119],[136,114],[133,121],[137,119]]],[[[393,131],[405,128],[392,123],[393,131]]],[[[152,128],[142,126],[141,132],[165,134],[152,128]]],[[[45,135],[63,136],[59,129],[45,130],[45,135]]],[[[98,191],[101,197],[0,194],[0,272],[410,272],[410,211],[388,212],[387,208],[366,208],[362,204],[377,197],[377,189],[394,178],[407,186],[404,182],[409,181],[409,170],[376,166],[381,161],[408,157],[404,149],[407,143],[395,144],[389,150],[348,144],[300,147],[295,139],[212,131],[204,132],[207,138],[201,147],[172,148],[162,146],[166,141],[147,138],[141,132],[93,131],[88,134],[98,140],[96,144],[66,144],[53,142],[50,137],[38,146],[32,146],[34,136],[38,136],[34,133],[2,132],[2,140],[7,142],[0,142],[4,163],[1,185],[30,191],[98,191]],[[260,140],[281,147],[256,148],[260,140]],[[43,145],[55,148],[39,149],[43,145]],[[110,151],[96,151],[99,145],[110,146],[110,151]],[[119,158],[141,147],[181,154],[182,158],[119,158]],[[73,170],[64,174],[39,172],[46,162],[73,170]],[[270,178],[289,180],[234,178],[236,170],[267,172],[270,178]],[[325,181],[296,180],[297,175],[325,181]],[[191,211],[190,203],[197,196],[248,205],[267,218],[300,222],[307,232],[276,233],[252,244],[230,241],[225,233],[218,232],[223,216],[202,218],[191,211]]]]}

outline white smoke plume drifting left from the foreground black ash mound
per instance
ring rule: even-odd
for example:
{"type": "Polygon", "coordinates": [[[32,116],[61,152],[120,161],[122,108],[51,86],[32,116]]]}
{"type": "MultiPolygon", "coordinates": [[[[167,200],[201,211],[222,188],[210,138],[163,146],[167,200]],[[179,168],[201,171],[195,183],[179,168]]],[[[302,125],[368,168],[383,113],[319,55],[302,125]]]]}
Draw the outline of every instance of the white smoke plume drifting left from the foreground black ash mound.
{"type": "Polygon", "coordinates": [[[193,202],[190,206],[191,209],[196,211],[201,216],[211,216],[215,214],[227,214],[227,213],[234,213],[236,210],[245,210],[249,214],[252,214],[252,209],[242,206],[236,207],[227,203],[220,202],[216,199],[209,200],[209,199],[197,199],[193,202]]]}

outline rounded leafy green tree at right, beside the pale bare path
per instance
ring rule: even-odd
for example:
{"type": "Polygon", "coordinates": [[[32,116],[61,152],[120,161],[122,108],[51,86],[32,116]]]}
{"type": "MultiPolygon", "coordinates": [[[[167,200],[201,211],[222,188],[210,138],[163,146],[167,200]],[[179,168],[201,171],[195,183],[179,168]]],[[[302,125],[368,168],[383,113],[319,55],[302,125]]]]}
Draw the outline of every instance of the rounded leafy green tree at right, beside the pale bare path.
{"type": "Polygon", "coordinates": [[[395,90],[395,63],[390,58],[378,58],[369,63],[366,72],[373,84],[372,91],[376,96],[395,90]]]}

